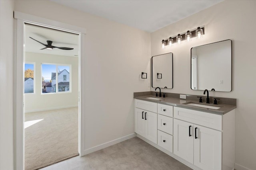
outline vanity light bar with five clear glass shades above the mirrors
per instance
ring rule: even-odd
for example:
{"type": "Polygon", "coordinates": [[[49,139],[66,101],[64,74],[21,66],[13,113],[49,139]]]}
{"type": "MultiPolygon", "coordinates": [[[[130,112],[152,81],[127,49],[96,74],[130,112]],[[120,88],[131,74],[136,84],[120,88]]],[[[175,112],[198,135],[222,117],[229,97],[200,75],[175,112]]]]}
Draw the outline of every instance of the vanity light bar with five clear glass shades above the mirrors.
{"type": "Polygon", "coordinates": [[[178,34],[176,37],[170,37],[166,40],[161,41],[161,48],[164,49],[166,46],[172,46],[174,43],[181,44],[182,41],[191,41],[192,38],[196,37],[196,39],[202,38],[204,35],[204,27],[197,27],[192,31],[187,31],[183,34],[178,34]],[[176,41],[174,41],[176,40],[176,41]]]}

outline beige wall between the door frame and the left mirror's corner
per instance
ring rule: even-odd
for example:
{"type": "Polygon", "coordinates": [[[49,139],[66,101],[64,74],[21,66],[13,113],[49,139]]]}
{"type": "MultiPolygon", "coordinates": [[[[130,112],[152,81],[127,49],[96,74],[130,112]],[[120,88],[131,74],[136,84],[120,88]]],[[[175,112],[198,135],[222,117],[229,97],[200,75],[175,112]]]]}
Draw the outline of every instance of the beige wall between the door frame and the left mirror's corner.
{"type": "Polygon", "coordinates": [[[133,92],[150,90],[150,79],[140,80],[150,73],[150,33],[50,1],[15,1],[14,9],[86,28],[86,149],[134,133],[133,92]]]}

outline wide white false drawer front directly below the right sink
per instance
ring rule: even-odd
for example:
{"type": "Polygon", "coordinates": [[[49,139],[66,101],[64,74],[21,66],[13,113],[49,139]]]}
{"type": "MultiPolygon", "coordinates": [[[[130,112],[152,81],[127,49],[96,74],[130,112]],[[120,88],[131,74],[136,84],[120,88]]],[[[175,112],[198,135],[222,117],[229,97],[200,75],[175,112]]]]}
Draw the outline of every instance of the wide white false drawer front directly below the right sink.
{"type": "Polygon", "coordinates": [[[203,111],[196,111],[185,109],[181,107],[174,107],[174,118],[184,120],[197,125],[210,127],[212,129],[222,130],[222,115],[207,113],[203,111]]]}

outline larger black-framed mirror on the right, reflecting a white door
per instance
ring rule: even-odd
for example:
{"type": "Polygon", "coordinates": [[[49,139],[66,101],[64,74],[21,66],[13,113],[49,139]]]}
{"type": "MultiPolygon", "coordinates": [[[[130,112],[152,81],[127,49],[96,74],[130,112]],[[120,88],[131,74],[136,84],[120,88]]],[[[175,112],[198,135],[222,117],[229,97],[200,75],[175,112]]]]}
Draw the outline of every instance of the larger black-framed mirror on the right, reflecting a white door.
{"type": "Polygon", "coordinates": [[[191,48],[191,89],[232,90],[232,41],[191,48]]]}

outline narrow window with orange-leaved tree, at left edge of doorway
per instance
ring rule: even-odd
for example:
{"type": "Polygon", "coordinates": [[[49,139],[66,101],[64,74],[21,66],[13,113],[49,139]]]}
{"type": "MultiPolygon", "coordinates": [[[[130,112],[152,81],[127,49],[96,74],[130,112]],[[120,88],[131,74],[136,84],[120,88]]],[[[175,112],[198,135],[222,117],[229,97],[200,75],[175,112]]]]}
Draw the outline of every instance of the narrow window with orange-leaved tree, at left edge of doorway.
{"type": "Polygon", "coordinates": [[[25,63],[24,93],[34,93],[34,64],[25,63]]]}

